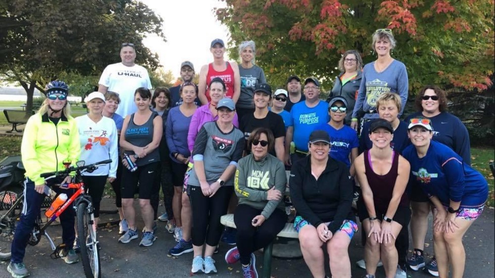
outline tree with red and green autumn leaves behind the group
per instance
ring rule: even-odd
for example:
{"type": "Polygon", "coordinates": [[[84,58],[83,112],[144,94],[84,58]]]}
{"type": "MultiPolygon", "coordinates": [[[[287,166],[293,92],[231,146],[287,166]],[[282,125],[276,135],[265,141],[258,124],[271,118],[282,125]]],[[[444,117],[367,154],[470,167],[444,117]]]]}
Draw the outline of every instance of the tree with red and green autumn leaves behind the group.
{"type": "Polygon", "coordinates": [[[406,65],[411,92],[427,84],[485,90],[492,83],[493,0],[224,1],[217,18],[233,44],[256,42],[257,63],[275,86],[291,74],[314,75],[329,90],[346,50],[358,50],[365,63],[376,59],[371,37],[379,28],[393,30],[392,56],[406,65]]]}

